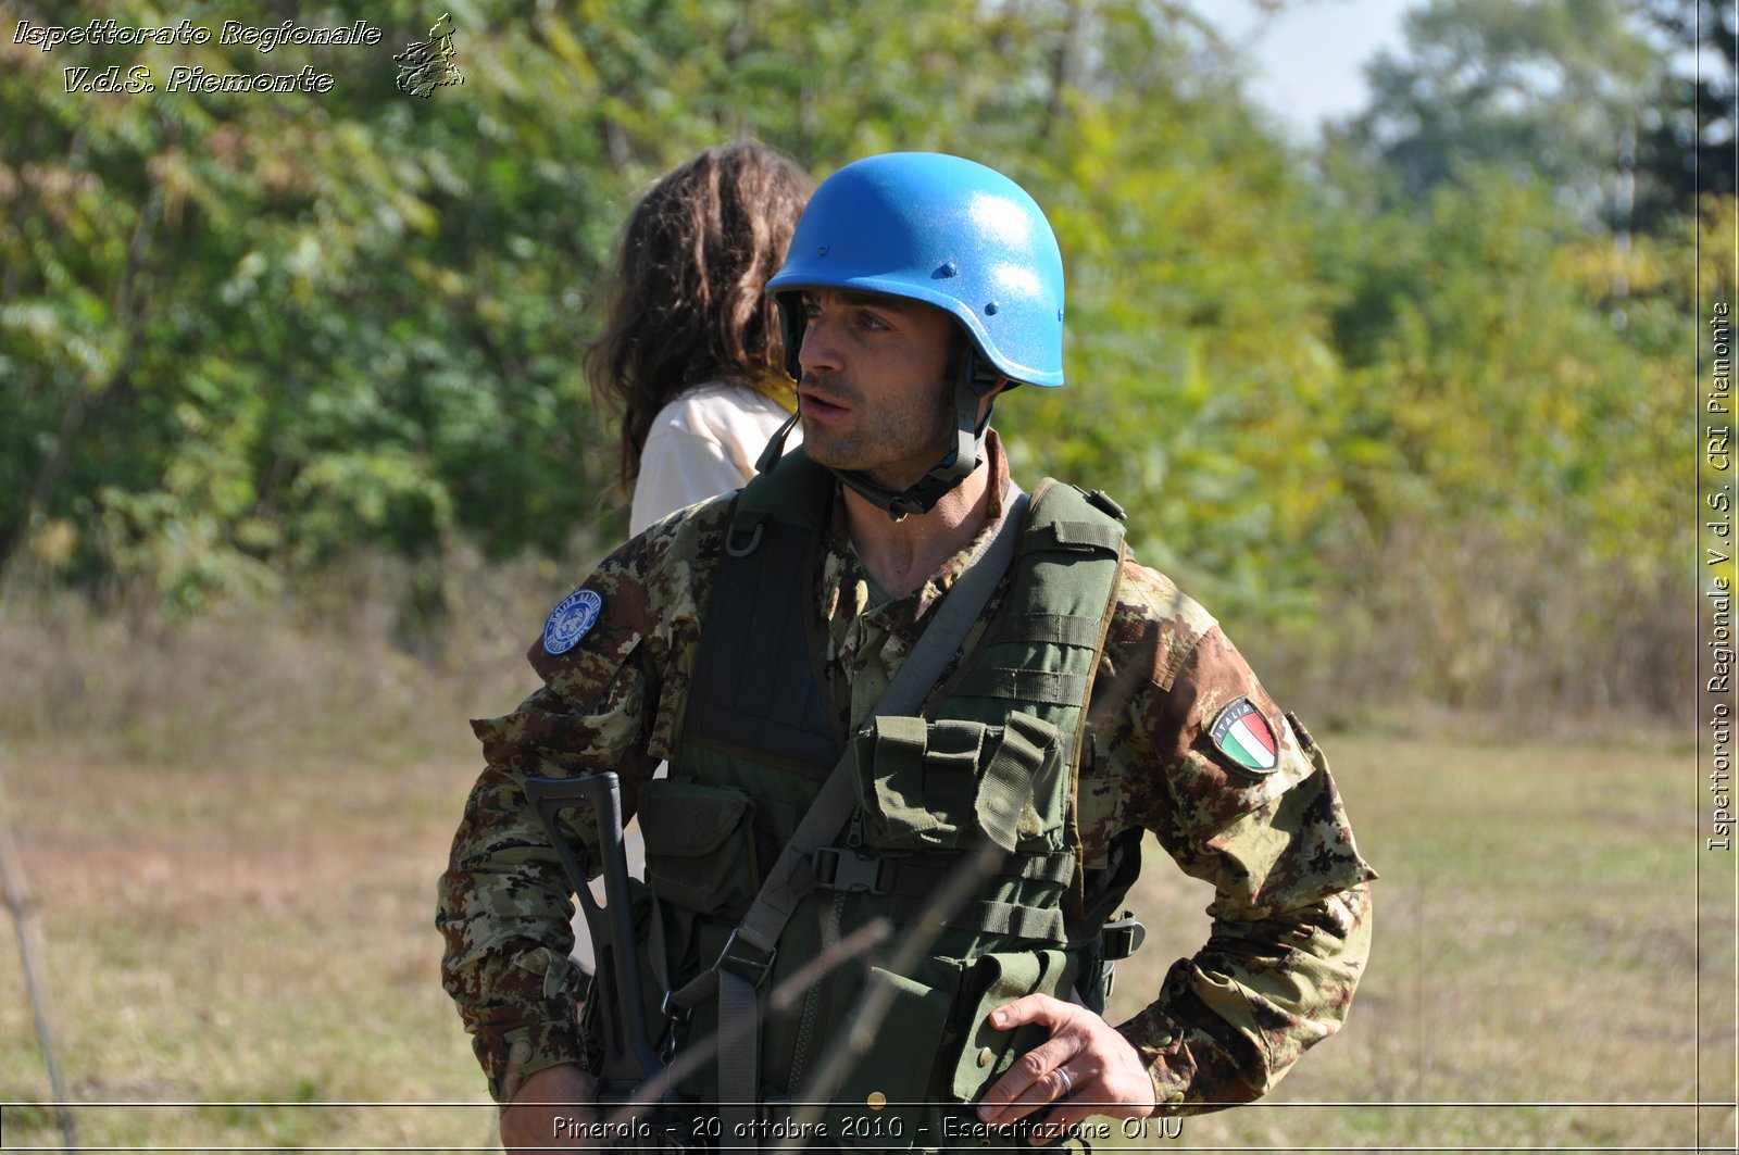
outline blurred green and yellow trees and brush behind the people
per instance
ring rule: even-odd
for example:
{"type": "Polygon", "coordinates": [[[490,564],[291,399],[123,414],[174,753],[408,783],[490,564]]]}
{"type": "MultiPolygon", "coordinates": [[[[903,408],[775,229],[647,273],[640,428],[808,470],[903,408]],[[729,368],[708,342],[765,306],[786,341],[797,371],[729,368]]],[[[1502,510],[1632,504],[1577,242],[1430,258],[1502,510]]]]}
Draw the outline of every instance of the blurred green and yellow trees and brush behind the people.
{"type": "Polygon", "coordinates": [[[63,7],[0,24],[12,590],[202,614],[390,551],[409,637],[450,611],[457,550],[595,557],[624,525],[579,372],[595,278],[647,181],[753,136],[817,176],[922,148],[1033,191],[1069,388],[1000,405],[1019,471],[1111,492],[1289,698],[1689,701],[1729,5],[1431,0],[1320,146],[1158,0],[268,9],[190,19],[384,37],[42,52],[16,21],[63,7]],[[417,99],[391,54],[440,10],[464,82],[417,99]],[[158,90],[66,90],[111,64],[158,90]],[[167,92],[176,64],[334,85],[167,92]]]}

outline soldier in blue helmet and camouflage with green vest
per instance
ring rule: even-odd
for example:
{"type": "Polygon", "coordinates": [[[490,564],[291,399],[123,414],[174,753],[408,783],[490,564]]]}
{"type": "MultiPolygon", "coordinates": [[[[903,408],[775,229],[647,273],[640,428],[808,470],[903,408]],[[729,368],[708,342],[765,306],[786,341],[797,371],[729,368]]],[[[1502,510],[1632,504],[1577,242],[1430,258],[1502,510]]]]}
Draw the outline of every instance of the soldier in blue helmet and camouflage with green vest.
{"type": "Polygon", "coordinates": [[[1374,873],[1322,750],[1116,506],[1010,482],[993,400],[1063,386],[1043,212],[958,157],[859,160],[769,292],[803,445],[610,555],[532,645],[543,685],[473,722],[438,925],[503,1141],[596,1134],[607,1009],[574,1021],[523,783],[610,769],[656,901],[647,1007],[609,1011],[661,1037],[696,1141],[1024,1148],[1264,1094],[1346,1016],[1374,873]],[[1143,831],[1214,929],[1113,1026],[1143,831]]]}

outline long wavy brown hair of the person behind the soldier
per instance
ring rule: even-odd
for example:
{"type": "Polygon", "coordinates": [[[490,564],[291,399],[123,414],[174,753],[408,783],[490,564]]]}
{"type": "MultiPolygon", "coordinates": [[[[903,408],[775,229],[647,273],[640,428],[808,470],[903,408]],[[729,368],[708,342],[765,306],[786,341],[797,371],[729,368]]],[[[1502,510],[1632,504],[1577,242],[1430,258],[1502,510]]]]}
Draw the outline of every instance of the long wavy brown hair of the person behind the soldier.
{"type": "Polygon", "coordinates": [[[586,346],[593,397],[623,419],[623,492],[640,477],[652,417],[683,390],[791,390],[763,289],[812,190],[783,153],[739,143],[708,148],[635,205],[605,282],[603,332],[586,346]]]}

